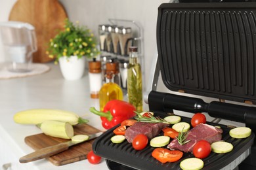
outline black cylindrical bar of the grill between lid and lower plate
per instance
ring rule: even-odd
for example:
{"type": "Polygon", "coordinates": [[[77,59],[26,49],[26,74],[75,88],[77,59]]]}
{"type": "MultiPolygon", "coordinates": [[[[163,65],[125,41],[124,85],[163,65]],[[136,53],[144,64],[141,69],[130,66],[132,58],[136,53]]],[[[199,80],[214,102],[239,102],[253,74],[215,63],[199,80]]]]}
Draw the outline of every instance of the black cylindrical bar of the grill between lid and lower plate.
{"type": "Polygon", "coordinates": [[[175,95],[152,91],[148,97],[148,105],[152,111],[170,112],[173,109],[185,112],[207,112],[214,118],[223,118],[235,122],[245,123],[247,127],[256,132],[256,107],[234,105],[212,101],[205,103],[196,97],[175,95]]]}

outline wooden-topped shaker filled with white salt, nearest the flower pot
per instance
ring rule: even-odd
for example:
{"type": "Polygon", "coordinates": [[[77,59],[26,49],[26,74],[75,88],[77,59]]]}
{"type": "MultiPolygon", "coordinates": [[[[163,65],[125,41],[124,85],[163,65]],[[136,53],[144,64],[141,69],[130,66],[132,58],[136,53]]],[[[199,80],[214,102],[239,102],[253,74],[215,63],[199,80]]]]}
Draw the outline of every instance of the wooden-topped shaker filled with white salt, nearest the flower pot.
{"type": "Polygon", "coordinates": [[[96,61],[96,58],[93,58],[93,61],[89,61],[89,82],[91,98],[97,99],[102,86],[102,74],[101,62],[96,61]]]}

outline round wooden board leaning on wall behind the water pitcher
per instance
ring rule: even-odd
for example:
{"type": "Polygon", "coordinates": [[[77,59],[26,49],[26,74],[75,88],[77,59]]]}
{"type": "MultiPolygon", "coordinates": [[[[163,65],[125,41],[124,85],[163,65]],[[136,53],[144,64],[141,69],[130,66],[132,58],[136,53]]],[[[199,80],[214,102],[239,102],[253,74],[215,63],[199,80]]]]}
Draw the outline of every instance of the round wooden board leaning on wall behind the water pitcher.
{"type": "Polygon", "coordinates": [[[28,22],[35,27],[37,52],[33,54],[33,62],[39,63],[53,60],[45,54],[47,43],[57,30],[64,29],[66,18],[66,11],[58,0],[17,0],[9,14],[9,20],[28,22]]]}

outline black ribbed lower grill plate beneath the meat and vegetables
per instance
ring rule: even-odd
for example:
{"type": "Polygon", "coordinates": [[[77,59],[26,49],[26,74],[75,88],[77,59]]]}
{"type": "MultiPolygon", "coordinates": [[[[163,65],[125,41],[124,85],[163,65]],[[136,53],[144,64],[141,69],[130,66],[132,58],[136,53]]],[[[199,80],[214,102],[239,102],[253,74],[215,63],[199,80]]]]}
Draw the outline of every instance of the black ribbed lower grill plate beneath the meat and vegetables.
{"type": "MultiPolygon", "coordinates": [[[[162,115],[161,117],[163,117],[164,114],[155,113],[155,115],[162,115]]],[[[190,118],[182,117],[182,122],[190,123],[190,118]]],[[[223,129],[223,141],[232,143],[234,148],[232,152],[228,152],[226,154],[215,154],[211,152],[207,158],[203,159],[203,169],[221,169],[236,160],[238,156],[243,154],[253,144],[253,139],[255,137],[254,133],[246,139],[234,139],[229,135],[230,128],[209,122],[207,122],[207,124],[221,126],[223,129]]],[[[120,144],[112,143],[110,138],[114,136],[114,133],[112,132],[114,129],[115,128],[112,128],[106,131],[93,143],[93,150],[95,153],[108,160],[121,163],[128,167],[133,167],[134,169],[181,169],[179,163],[181,163],[182,160],[194,157],[191,153],[184,153],[183,157],[179,161],[174,163],[161,163],[151,156],[154,148],[151,147],[149,143],[146,148],[139,151],[135,150],[132,144],[127,141],[120,144]]],[[[160,133],[160,135],[163,134],[160,133]]],[[[166,146],[163,148],[166,148],[166,146]]]]}

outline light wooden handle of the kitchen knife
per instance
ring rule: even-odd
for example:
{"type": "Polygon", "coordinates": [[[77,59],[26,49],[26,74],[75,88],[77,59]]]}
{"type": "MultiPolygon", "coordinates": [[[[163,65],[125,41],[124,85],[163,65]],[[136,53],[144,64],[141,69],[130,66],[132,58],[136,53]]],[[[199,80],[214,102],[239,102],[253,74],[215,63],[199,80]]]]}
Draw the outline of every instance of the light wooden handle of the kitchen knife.
{"type": "Polygon", "coordinates": [[[19,161],[20,163],[27,163],[30,161],[41,160],[43,158],[48,158],[50,156],[58,154],[64,150],[68,150],[68,147],[68,143],[60,143],[54,146],[48,146],[46,148],[36,150],[31,154],[27,154],[26,156],[22,156],[19,161]]]}

